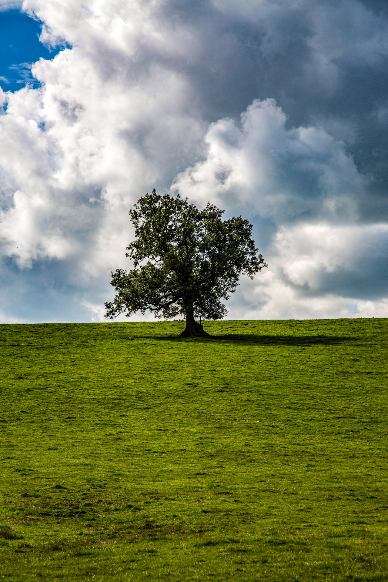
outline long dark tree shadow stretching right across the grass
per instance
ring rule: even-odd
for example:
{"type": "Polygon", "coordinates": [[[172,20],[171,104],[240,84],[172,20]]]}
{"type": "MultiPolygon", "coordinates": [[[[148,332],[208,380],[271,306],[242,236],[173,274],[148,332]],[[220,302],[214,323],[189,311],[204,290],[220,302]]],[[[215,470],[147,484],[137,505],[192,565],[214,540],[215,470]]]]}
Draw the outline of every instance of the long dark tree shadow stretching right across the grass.
{"type": "MultiPolygon", "coordinates": [[[[151,339],[148,336],[148,339],[151,339]]],[[[229,333],[209,338],[179,338],[177,336],[153,336],[152,339],[170,342],[238,343],[259,346],[333,346],[341,343],[359,342],[361,338],[332,335],[258,335],[255,333],[229,333]]]]}

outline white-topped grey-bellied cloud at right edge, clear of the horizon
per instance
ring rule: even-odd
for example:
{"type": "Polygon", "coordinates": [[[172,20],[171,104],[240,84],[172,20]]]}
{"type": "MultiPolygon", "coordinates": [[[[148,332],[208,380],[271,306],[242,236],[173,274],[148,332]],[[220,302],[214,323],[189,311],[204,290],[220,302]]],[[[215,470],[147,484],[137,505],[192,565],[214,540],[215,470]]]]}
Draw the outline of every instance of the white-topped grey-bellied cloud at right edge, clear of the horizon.
{"type": "Polygon", "coordinates": [[[387,289],[387,223],[283,227],[274,247],[284,277],[293,286],[371,299],[387,289]]]}

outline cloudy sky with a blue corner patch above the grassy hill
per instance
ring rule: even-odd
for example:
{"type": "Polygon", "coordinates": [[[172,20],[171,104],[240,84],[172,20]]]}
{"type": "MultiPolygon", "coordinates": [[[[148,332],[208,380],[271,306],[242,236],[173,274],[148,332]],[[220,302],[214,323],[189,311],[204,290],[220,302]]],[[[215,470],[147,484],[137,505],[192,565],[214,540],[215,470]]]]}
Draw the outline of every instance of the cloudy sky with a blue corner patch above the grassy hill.
{"type": "Polygon", "coordinates": [[[0,0],[0,55],[0,322],[104,321],[154,187],[254,224],[227,318],[388,317],[385,1],[0,0]]]}

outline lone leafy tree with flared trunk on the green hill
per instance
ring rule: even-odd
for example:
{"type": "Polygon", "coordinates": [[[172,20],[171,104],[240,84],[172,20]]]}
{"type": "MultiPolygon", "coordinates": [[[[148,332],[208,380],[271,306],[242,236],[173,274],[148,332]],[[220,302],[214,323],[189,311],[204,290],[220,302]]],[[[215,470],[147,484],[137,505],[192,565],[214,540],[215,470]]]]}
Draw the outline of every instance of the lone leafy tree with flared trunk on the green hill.
{"type": "Polygon", "coordinates": [[[251,239],[245,219],[221,219],[223,210],[207,204],[198,210],[179,195],[145,194],[130,211],[136,240],[127,247],[129,271],[116,269],[111,285],[115,299],[105,303],[113,319],[149,310],[155,317],[186,317],[180,336],[208,336],[195,318],[219,320],[240,275],[251,279],[267,267],[251,239]],[[140,266],[141,265],[141,266],[140,266]]]}

